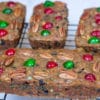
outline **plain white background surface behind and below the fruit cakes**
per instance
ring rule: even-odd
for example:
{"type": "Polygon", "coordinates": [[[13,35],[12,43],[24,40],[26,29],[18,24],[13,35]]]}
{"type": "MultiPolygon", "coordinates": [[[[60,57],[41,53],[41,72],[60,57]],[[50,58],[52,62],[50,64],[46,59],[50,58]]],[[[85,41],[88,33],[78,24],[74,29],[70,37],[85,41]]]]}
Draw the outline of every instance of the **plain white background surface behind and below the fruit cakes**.
{"type": "MultiPolygon", "coordinates": [[[[9,1],[9,0],[0,0],[1,1],[9,1]]],[[[29,22],[30,16],[33,11],[33,7],[38,3],[44,2],[45,0],[13,0],[19,1],[26,5],[27,14],[26,14],[26,22],[29,22]]],[[[52,0],[53,1],[53,0],[52,0]]],[[[55,0],[54,0],[55,1],[55,0]]],[[[99,7],[100,0],[59,0],[66,2],[69,9],[69,23],[70,24],[78,24],[80,15],[82,14],[85,8],[89,7],[99,7]]],[[[3,94],[0,94],[0,99],[2,99],[3,94]]],[[[18,97],[14,95],[8,95],[7,100],[47,100],[47,99],[36,99],[36,98],[26,98],[26,97],[18,97]]],[[[67,100],[67,99],[66,99],[67,100]]]]}

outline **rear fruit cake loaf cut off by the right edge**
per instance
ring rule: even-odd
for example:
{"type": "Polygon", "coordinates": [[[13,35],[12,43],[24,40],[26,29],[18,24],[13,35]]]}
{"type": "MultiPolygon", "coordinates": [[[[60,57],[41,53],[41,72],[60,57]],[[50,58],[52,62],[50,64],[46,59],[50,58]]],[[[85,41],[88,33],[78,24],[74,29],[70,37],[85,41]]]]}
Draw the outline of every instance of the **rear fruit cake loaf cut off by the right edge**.
{"type": "Polygon", "coordinates": [[[77,30],[77,47],[100,51],[100,8],[85,9],[77,30]]]}

